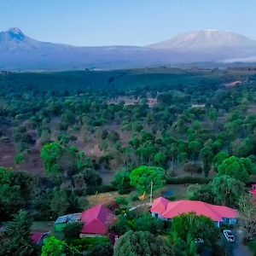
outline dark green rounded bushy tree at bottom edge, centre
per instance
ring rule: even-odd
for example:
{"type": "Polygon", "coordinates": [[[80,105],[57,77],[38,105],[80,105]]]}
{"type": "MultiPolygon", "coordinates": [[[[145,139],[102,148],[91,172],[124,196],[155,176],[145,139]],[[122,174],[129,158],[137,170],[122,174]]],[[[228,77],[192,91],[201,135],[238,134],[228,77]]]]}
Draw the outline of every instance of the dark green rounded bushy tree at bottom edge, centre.
{"type": "Polygon", "coordinates": [[[113,247],[113,256],[171,256],[172,247],[149,232],[128,231],[120,236],[113,247]]]}

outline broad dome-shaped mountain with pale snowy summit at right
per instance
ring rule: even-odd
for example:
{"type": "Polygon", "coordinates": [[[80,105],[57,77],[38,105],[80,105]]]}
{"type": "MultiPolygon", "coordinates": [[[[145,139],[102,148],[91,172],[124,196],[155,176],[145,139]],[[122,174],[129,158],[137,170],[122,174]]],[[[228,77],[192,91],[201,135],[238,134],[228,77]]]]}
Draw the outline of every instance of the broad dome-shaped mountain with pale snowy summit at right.
{"type": "Polygon", "coordinates": [[[148,48],[176,52],[187,61],[228,62],[255,55],[256,41],[232,32],[207,30],[186,32],[148,48]]]}

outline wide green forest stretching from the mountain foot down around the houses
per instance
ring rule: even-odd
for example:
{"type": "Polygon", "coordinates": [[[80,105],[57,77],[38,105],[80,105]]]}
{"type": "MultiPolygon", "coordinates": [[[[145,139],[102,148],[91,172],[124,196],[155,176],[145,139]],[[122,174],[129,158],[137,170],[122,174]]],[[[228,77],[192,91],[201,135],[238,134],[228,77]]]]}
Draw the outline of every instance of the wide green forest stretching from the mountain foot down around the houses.
{"type": "MultiPolygon", "coordinates": [[[[8,226],[0,255],[15,255],[8,245],[18,236],[15,221],[29,230],[32,221],[82,212],[92,205],[91,196],[104,193],[117,195],[108,202],[120,216],[116,234],[142,242],[147,236],[161,244],[163,251],[152,249],[160,255],[196,255],[191,237],[178,230],[181,220],[170,227],[147,211],[123,213],[138,196],[150,194],[151,180],[154,193],[188,184],[183,198],[240,209],[244,198],[238,198],[256,180],[255,88],[256,71],[250,68],[0,72],[0,224],[8,226]],[[159,236],[175,229],[170,243],[159,236]]],[[[212,223],[201,221],[204,232],[216,234],[212,223]]],[[[77,234],[68,237],[70,230],[64,240],[52,236],[51,242],[67,255],[80,255],[83,245],[77,234]]],[[[114,254],[103,240],[86,250],[121,255],[122,239],[114,254]]],[[[216,243],[211,234],[205,241],[216,243]]],[[[41,252],[32,244],[26,249],[20,255],[41,252]]],[[[42,255],[63,254],[44,254],[43,248],[42,255]]]]}

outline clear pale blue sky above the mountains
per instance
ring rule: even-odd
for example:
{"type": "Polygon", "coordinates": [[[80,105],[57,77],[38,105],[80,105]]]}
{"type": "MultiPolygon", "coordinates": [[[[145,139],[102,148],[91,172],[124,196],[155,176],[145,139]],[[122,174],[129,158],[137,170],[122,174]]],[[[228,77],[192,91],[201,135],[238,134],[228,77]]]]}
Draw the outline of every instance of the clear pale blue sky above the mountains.
{"type": "Polygon", "coordinates": [[[0,0],[0,31],[73,45],[147,45],[196,30],[256,40],[255,0],[0,0]]]}

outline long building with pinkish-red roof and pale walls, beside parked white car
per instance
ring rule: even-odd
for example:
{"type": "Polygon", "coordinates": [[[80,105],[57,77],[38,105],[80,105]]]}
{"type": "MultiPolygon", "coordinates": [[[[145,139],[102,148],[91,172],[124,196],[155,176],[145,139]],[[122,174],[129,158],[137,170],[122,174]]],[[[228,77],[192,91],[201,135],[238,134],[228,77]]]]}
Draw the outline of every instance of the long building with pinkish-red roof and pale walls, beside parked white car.
{"type": "Polygon", "coordinates": [[[182,213],[195,212],[211,218],[216,226],[221,224],[236,224],[238,212],[230,207],[215,206],[203,201],[168,201],[163,197],[154,200],[150,209],[152,216],[165,220],[171,220],[182,213]]]}

